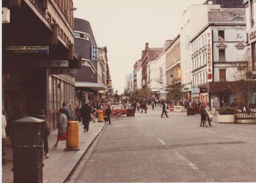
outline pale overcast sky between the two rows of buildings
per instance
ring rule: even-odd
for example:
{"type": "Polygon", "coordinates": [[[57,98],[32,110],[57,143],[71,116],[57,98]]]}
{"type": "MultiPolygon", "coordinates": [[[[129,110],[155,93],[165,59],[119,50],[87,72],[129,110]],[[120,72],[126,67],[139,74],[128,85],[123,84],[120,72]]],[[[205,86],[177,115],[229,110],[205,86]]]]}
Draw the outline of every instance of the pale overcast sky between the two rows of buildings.
{"type": "Polygon", "coordinates": [[[141,59],[145,43],[163,47],[179,34],[182,12],[205,0],[74,0],[74,17],[88,20],[99,47],[108,47],[112,84],[124,92],[125,75],[141,59]]]}

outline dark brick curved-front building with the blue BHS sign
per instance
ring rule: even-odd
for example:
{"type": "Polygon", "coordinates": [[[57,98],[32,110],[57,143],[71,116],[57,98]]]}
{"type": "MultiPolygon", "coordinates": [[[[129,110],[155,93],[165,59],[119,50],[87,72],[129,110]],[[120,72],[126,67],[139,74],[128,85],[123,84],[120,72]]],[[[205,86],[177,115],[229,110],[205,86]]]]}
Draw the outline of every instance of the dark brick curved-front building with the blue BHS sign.
{"type": "MultiPolygon", "coordinates": [[[[97,46],[90,22],[74,19],[75,51],[82,57],[82,68],[77,70],[76,99],[77,104],[99,100],[106,89],[104,83],[104,64],[100,58],[92,58],[92,46],[97,46]]],[[[98,51],[98,48],[97,48],[98,51]]],[[[101,52],[102,53],[102,52],[101,52]]],[[[99,52],[97,53],[99,57],[99,52]]],[[[104,61],[104,58],[102,58],[104,61]]]]}

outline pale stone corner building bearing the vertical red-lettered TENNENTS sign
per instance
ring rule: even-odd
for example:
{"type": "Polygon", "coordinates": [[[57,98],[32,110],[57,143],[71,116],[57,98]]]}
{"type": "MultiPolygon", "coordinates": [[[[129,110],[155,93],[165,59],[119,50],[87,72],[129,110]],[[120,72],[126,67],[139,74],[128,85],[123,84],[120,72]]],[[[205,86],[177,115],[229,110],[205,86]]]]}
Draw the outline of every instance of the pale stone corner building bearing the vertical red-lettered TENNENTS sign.
{"type": "Polygon", "coordinates": [[[192,101],[209,102],[218,108],[236,98],[234,85],[246,68],[245,14],[244,8],[234,12],[221,8],[218,15],[208,14],[210,23],[190,42],[192,101]]]}

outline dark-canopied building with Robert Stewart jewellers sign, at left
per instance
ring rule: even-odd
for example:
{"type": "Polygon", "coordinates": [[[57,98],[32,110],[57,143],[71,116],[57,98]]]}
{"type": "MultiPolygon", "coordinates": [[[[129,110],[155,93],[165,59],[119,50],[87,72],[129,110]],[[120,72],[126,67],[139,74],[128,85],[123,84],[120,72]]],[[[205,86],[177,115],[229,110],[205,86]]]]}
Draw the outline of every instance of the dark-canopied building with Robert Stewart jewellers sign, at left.
{"type": "Polygon", "coordinates": [[[62,102],[74,107],[76,68],[73,2],[2,1],[10,10],[3,24],[3,105],[15,103],[28,116],[44,109],[50,129],[57,128],[62,102]]]}

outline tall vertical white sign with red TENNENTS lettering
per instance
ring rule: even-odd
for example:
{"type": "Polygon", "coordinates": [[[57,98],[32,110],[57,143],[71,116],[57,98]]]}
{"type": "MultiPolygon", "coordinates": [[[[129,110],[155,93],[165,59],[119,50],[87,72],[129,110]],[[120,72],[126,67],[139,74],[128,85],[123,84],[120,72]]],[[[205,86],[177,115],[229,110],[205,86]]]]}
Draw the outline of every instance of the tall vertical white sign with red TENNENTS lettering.
{"type": "Polygon", "coordinates": [[[212,82],[212,30],[207,33],[207,82],[212,82]]]}

